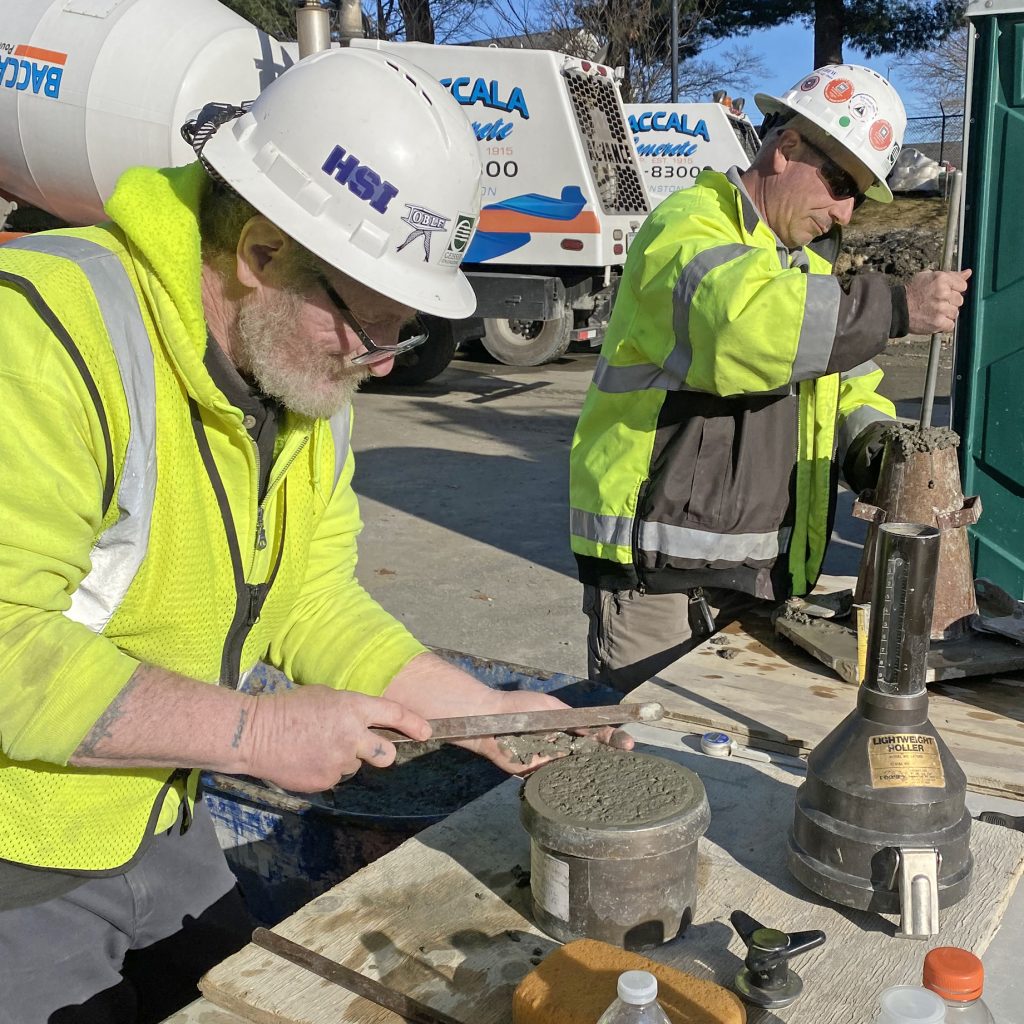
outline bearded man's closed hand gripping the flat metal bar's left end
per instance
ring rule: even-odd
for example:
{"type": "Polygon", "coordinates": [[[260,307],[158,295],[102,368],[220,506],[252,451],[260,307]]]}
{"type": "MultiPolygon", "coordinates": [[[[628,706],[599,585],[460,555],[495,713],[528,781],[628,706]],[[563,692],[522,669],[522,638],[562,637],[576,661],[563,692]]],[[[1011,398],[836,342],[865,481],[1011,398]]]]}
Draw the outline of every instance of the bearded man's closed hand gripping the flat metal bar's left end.
{"type": "Polygon", "coordinates": [[[393,700],[328,686],[300,686],[254,700],[246,735],[246,773],[295,793],[329,790],[370,764],[394,761],[394,744],[371,726],[429,739],[430,726],[393,700]]]}

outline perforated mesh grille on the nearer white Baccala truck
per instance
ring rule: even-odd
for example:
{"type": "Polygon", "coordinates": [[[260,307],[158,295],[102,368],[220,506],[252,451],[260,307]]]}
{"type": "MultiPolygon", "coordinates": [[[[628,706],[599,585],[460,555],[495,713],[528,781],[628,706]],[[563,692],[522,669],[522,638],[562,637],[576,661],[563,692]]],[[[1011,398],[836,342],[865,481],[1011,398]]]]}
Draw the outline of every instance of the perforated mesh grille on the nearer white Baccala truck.
{"type": "Polygon", "coordinates": [[[636,169],[614,82],[574,68],[566,68],[564,75],[601,208],[605,213],[646,216],[647,190],[636,169]]]}

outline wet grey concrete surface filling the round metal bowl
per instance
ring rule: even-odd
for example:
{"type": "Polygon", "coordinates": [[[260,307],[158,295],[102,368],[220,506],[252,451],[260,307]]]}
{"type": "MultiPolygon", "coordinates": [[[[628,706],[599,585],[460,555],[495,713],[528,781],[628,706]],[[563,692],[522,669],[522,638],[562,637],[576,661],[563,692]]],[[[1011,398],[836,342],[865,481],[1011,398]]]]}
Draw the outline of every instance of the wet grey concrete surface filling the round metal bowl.
{"type": "Polygon", "coordinates": [[[671,762],[608,750],[546,765],[538,796],[566,821],[633,825],[678,813],[689,786],[671,762]]]}

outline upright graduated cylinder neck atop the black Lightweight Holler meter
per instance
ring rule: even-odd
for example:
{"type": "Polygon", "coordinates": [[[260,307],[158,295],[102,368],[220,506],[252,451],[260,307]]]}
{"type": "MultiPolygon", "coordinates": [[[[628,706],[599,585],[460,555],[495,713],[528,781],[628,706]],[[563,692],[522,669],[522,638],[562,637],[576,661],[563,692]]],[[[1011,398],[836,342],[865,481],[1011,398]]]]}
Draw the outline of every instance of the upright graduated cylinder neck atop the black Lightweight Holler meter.
{"type": "Polygon", "coordinates": [[[879,527],[864,680],[869,689],[904,696],[925,690],[939,543],[934,526],[879,527]]]}

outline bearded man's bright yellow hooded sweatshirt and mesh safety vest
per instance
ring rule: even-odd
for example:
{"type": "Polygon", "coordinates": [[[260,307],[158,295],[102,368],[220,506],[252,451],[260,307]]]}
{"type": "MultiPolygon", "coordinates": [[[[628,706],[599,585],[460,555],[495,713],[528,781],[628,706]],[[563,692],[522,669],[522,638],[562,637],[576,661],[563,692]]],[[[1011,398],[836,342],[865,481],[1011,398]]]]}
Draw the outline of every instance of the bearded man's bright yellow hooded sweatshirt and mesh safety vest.
{"type": "Polygon", "coordinates": [[[0,858],[132,862],[186,772],[68,760],[140,663],[381,693],[425,648],[355,579],[349,410],[288,414],[258,503],[203,362],[198,164],[127,172],[113,223],[0,247],[0,858]]]}

